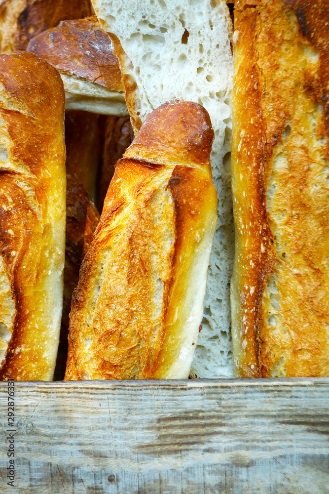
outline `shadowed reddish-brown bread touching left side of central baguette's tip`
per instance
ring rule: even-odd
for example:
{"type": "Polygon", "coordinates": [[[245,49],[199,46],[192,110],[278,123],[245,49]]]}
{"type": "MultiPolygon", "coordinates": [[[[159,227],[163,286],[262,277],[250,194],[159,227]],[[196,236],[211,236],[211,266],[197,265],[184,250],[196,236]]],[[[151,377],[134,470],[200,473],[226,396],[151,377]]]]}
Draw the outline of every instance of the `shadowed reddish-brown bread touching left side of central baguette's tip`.
{"type": "Polygon", "coordinates": [[[114,166],[134,139],[129,117],[101,117],[102,150],[98,183],[98,210],[102,211],[114,166]]]}

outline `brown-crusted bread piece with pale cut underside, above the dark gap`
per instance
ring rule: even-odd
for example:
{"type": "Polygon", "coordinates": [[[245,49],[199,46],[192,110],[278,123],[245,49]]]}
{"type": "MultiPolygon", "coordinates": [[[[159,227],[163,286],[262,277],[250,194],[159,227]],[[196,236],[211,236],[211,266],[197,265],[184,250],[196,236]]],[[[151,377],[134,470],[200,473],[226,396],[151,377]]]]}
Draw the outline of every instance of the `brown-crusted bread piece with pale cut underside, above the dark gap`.
{"type": "Polygon", "coordinates": [[[61,74],[66,110],[128,115],[112,42],[95,16],[64,21],[30,41],[27,50],[61,74]]]}

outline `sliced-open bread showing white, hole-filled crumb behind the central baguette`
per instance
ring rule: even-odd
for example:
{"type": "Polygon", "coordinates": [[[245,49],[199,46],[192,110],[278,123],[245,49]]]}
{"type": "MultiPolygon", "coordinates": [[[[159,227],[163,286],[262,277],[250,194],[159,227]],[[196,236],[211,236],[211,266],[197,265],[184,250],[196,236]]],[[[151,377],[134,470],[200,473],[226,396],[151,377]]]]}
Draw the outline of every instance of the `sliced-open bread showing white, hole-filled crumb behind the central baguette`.
{"type": "Polygon", "coordinates": [[[218,227],[208,272],[204,317],[191,376],[232,377],[229,284],[234,256],[230,139],[232,22],[223,0],[93,0],[119,58],[135,133],[172,98],[209,112],[218,227]]]}

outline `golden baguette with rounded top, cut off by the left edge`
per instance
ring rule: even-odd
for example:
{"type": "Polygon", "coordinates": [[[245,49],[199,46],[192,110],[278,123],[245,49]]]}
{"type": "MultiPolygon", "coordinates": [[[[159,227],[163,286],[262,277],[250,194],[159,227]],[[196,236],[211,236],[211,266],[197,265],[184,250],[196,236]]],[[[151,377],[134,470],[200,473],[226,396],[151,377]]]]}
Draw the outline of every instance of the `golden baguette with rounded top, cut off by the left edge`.
{"type": "Polygon", "coordinates": [[[0,379],[53,376],[65,250],[64,103],[53,67],[32,53],[0,55],[1,288],[10,292],[9,301],[0,297],[2,348],[10,338],[0,379]]]}

